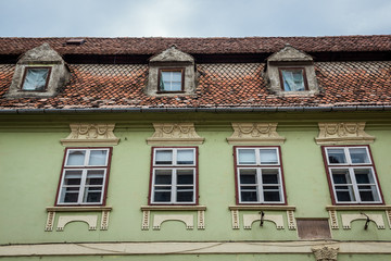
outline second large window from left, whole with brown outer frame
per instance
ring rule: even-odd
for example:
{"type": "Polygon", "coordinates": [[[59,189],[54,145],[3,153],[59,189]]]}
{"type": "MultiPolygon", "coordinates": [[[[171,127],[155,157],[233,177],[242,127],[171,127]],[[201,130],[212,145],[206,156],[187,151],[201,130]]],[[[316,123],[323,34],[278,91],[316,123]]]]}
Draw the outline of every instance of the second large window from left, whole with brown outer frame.
{"type": "Polygon", "coordinates": [[[152,148],[150,204],[198,204],[198,148],[152,148]]]}

